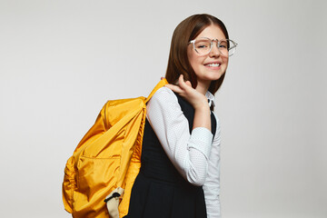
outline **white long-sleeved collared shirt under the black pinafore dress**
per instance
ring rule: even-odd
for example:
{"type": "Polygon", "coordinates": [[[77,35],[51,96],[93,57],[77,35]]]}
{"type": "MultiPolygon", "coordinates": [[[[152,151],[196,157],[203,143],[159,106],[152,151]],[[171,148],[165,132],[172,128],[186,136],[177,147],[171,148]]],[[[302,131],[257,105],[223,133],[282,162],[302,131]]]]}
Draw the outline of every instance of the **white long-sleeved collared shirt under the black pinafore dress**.
{"type": "MultiPolygon", "coordinates": [[[[209,105],[213,94],[207,92],[209,105]]],[[[220,124],[216,133],[204,127],[189,131],[178,99],[169,88],[160,88],[146,106],[146,117],[154,129],[164,152],[179,173],[193,185],[203,185],[208,218],[220,218],[220,124]]]]}

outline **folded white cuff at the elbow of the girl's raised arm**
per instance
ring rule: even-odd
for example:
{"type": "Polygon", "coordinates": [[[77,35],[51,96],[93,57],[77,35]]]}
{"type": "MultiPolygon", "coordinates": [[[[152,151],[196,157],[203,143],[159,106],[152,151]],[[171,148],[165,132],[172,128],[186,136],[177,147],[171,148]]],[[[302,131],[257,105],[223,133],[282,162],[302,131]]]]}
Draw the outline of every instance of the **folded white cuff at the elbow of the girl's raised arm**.
{"type": "Polygon", "coordinates": [[[207,128],[196,127],[192,131],[190,144],[188,144],[187,149],[196,149],[200,151],[206,159],[209,159],[212,142],[213,134],[207,128]]]}

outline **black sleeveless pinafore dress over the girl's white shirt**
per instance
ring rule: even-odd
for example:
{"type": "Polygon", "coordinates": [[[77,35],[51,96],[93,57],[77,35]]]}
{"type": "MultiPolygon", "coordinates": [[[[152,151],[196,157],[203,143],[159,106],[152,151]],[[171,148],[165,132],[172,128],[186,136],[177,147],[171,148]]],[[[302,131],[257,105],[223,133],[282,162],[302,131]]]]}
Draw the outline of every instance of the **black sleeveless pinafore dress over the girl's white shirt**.
{"type": "MultiPolygon", "coordinates": [[[[176,96],[191,133],[194,109],[178,94],[176,96]]],[[[213,113],[211,120],[214,135],[216,120],[213,113]]],[[[147,120],[141,163],[131,193],[129,212],[124,218],[206,218],[202,186],[188,183],[178,173],[147,120]]]]}

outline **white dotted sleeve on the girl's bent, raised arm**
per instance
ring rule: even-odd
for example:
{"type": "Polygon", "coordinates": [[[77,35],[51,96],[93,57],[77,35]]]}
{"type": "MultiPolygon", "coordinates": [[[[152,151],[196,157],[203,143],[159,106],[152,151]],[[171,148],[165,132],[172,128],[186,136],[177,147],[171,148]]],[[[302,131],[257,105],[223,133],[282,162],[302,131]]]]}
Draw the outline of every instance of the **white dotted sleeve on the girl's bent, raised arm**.
{"type": "Polygon", "coordinates": [[[189,124],[168,88],[159,89],[147,105],[147,119],[163,150],[183,177],[194,185],[203,185],[209,165],[213,134],[206,128],[189,124]]]}

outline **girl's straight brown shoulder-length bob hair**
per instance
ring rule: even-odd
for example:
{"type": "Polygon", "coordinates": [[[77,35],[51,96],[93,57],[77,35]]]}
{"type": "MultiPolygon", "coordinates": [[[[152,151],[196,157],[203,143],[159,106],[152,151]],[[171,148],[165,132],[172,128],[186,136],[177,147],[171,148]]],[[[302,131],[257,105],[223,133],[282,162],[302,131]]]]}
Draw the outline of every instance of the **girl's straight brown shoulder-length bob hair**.
{"type": "MultiPolygon", "coordinates": [[[[187,46],[191,40],[200,35],[209,25],[218,25],[226,39],[229,39],[227,29],[223,22],[213,15],[192,15],[184,19],[173,31],[173,38],[168,59],[165,78],[170,84],[175,84],[183,74],[184,80],[191,82],[193,88],[197,85],[197,78],[188,60],[187,46]]],[[[224,74],[210,84],[209,92],[215,94],[223,84],[224,74]]]]}

